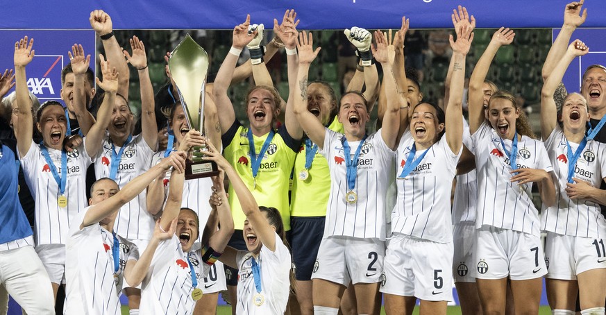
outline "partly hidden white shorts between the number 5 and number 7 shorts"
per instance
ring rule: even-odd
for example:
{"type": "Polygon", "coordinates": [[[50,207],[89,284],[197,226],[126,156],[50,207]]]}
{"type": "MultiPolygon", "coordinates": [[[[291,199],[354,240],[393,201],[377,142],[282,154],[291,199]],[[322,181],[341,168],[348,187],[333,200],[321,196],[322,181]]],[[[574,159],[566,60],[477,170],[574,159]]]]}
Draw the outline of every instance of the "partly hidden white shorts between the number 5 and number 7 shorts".
{"type": "Polygon", "coordinates": [[[455,282],[475,282],[475,223],[458,223],[453,228],[453,276],[455,282]]]}

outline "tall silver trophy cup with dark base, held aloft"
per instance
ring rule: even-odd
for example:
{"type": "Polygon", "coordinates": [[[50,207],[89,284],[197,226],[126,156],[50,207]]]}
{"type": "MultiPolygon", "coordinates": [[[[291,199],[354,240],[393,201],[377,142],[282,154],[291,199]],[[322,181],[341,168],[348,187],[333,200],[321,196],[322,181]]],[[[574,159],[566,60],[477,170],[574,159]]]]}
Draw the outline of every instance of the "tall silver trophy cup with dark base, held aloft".
{"type": "MultiPolygon", "coordinates": [[[[179,99],[190,129],[204,133],[204,100],[208,54],[187,34],[169,58],[171,77],[177,86],[179,99]]],[[[217,176],[217,163],[203,160],[206,147],[194,146],[185,161],[185,179],[217,176]]]]}

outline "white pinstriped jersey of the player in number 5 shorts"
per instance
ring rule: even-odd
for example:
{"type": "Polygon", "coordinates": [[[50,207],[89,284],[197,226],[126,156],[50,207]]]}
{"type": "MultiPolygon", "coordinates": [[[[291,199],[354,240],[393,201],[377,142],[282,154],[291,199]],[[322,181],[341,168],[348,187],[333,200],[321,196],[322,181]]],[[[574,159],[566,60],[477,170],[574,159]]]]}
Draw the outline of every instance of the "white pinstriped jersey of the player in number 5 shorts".
{"type": "Polygon", "coordinates": [[[442,136],[427,150],[416,151],[415,159],[427,153],[410,174],[400,178],[413,144],[410,131],[406,131],[396,156],[398,201],[392,212],[392,234],[448,243],[453,241],[451,190],[462,148],[453,153],[442,136]]]}

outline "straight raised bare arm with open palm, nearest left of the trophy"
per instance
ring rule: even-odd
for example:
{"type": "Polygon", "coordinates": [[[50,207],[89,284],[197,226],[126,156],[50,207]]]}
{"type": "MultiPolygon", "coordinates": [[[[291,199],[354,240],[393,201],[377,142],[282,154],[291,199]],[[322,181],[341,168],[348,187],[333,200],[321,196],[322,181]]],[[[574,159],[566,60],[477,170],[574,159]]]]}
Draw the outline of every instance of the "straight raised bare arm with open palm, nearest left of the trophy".
{"type": "Polygon", "coordinates": [[[147,56],[145,46],[137,36],[130,40],[133,56],[124,51],[124,57],[128,60],[139,74],[139,85],[141,89],[141,130],[146,144],[155,151],[158,146],[158,124],[155,121],[155,103],[153,99],[153,87],[149,78],[147,67],[147,56]]]}

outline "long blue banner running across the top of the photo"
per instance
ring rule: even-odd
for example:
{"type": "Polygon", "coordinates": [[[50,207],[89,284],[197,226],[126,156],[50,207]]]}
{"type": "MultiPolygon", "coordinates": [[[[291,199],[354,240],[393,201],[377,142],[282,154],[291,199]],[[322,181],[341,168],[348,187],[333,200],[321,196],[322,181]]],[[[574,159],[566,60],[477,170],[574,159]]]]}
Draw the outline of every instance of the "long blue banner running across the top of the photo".
{"type": "MultiPolygon", "coordinates": [[[[301,29],[360,26],[396,28],[402,15],[411,28],[451,28],[457,5],[475,15],[478,27],[561,27],[570,0],[128,0],[128,1],[4,1],[0,28],[88,29],[90,12],[105,10],[116,29],[232,29],[246,14],[266,26],[284,11],[298,12],[301,29]]],[[[584,27],[606,27],[603,1],[587,0],[584,27]]]]}

